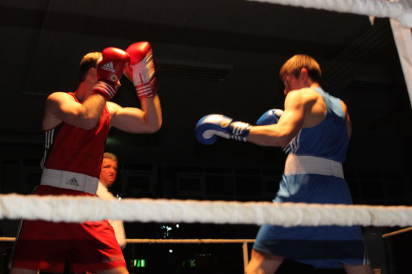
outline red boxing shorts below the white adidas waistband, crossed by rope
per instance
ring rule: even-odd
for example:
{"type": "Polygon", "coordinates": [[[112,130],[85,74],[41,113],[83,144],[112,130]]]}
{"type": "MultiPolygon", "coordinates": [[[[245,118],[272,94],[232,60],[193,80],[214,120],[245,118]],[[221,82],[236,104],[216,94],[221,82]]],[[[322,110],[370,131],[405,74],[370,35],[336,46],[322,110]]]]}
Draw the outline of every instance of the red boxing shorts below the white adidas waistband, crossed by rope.
{"type": "MultiPolygon", "coordinates": [[[[35,194],[96,196],[43,185],[35,194]]],[[[73,273],[126,267],[113,227],[106,220],[85,223],[23,221],[11,268],[62,273],[66,260],[73,273]]]]}

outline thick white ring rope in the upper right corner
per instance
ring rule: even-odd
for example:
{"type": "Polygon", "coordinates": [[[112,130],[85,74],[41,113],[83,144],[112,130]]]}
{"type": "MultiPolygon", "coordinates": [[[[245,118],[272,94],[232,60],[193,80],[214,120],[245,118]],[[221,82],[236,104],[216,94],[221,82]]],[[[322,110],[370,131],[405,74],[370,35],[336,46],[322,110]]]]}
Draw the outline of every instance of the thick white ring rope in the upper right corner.
{"type": "Polygon", "coordinates": [[[412,27],[411,3],[381,0],[247,0],[295,7],[330,10],[367,16],[393,18],[404,26],[412,27]]]}

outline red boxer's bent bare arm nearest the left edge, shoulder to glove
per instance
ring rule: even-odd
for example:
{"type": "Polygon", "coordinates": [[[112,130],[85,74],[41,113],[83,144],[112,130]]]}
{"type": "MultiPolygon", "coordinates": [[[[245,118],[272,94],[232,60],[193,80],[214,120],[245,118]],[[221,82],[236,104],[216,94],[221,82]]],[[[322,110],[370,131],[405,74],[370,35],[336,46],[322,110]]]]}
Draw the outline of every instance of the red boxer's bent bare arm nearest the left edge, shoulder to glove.
{"type": "Polygon", "coordinates": [[[78,103],[65,92],[54,92],[47,97],[43,130],[52,129],[61,122],[82,129],[93,129],[103,112],[106,100],[100,95],[91,95],[83,103],[78,103]]]}

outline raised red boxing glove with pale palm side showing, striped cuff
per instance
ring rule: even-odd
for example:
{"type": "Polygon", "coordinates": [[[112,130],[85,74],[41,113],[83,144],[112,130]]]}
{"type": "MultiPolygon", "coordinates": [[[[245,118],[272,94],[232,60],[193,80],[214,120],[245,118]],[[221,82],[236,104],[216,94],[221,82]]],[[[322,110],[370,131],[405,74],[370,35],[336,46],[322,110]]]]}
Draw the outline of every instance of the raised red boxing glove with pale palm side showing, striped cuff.
{"type": "Polygon", "coordinates": [[[139,99],[154,97],[157,93],[155,63],[149,42],[136,42],[126,52],[130,55],[130,65],[124,70],[128,79],[133,81],[139,99]]]}

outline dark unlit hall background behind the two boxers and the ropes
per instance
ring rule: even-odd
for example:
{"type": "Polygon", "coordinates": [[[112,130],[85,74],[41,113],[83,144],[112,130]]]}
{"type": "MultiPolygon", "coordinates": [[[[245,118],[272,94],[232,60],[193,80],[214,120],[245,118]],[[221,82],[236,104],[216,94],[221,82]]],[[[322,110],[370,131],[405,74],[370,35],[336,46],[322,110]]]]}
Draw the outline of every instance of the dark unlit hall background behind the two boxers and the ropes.
{"type": "MultiPolygon", "coordinates": [[[[152,135],[111,130],[117,195],[271,201],[281,149],[230,140],[203,146],[194,125],[211,113],[255,123],[283,108],[279,68],[307,53],[321,65],[323,88],[348,105],[354,130],[344,170],[354,202],[411,205],[411,101],[387,18],[371,25],[367,16],[249,1],[146,2],[0,0],[1,193],[27,194],[38,184],[45,99],[76,89],[82,55],[148,40],[163,126],[152,135]]],[[[139,106],[125,77],[113,101],[139,106]]],[[[14,236],[15,223],[2,223],[2,236],[14,236]]],[[[179,236],[254,238],[257,229],[223,227],[179,236]]],[[[162,233],[130,228],[128,236],[162,233]]]]}

